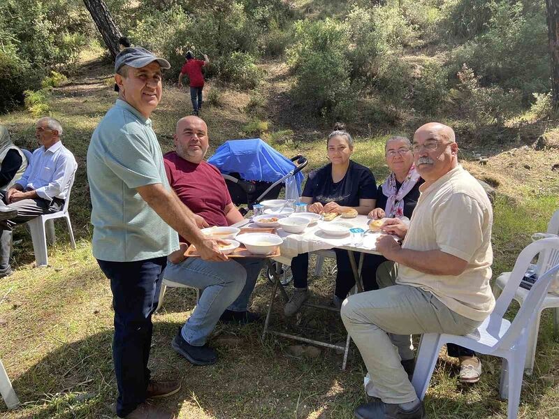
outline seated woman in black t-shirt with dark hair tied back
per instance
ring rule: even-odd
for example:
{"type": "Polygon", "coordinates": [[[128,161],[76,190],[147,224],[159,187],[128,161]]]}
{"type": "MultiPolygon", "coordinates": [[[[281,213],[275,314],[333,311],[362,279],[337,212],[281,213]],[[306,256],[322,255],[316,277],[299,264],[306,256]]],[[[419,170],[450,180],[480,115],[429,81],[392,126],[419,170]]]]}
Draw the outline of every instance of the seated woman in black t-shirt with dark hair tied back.
{"type": "MultiPolygon", "coordinates": [[[[377,184],[370,169],[361,166],[350,157],[354,151],[351,135],[347,131],[333,131],[328,135],[328,163],[309,174],[301,202],[308,204],[310,212],[337,212],[341,214],[353,208],[366,215],[375,207],[377,184]]],[[[355,278],[347,251],[336,252],[337,275],[334,304],[341,306],[347,293],[355,284],[355,278]]],[[[284,307],[284,314],[292,316],[299,311],[308,298],[307,275],[309,253],[300,253],[291,260],[295,292],[284,307]]]]}

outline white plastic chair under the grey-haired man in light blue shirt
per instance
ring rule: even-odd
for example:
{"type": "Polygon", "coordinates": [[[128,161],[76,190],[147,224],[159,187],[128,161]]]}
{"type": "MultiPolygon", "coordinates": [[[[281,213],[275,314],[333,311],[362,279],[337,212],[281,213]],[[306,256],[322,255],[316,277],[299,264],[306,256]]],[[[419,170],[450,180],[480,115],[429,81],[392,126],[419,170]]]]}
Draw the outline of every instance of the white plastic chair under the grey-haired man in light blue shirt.
{"type": "MultiPolygon", "coordinates": [[[[47,229],[45,228],[45,223],[49,220],[55,220],[58,218],[66,219],[66,225],[68,226],[68,234],[70,235],[70,242],[72,248],[75,249],[74,233],[72,231],[72,224],[70,223],[70,214],[68,214],[68,205],[70,205],[70,193],[72,191],[72,186],[75,179],[75,172],[73,173],[70,184],[68,184],[68,195],[66,200],[64,200],[64,207],[58,212],[53,212],[52,214],[43,214],[30,221],[27,221],[29,230],[31,230],[31,240],[33,240],[33,251],[35,252],[35,261],[37,266],[48,265],[48,253],[47,253],[47,229]]],[[[50,221],[51,223],[53,221],[50,221]]],[[[54,230],[54,228],[52,228],[54,230]]],[[[51,238],[54,241],[54,236],[51,238]]]]}

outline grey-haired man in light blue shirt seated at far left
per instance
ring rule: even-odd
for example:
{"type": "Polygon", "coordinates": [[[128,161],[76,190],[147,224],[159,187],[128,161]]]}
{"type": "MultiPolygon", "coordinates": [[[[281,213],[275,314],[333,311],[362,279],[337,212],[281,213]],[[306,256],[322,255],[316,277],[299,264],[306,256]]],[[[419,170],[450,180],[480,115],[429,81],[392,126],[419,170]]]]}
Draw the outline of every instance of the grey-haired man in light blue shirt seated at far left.
{"type": "Polygon", "coordinates": [[[33,152],[21,179],[8,191],[0,191],[0,278],[12,274],[10,254],[12,229],[42,214],[60,211],[78,168],[73,154],[62,145],[63,130],[57,119],[45,117],[36,123],[41,147],[33,152]]]}

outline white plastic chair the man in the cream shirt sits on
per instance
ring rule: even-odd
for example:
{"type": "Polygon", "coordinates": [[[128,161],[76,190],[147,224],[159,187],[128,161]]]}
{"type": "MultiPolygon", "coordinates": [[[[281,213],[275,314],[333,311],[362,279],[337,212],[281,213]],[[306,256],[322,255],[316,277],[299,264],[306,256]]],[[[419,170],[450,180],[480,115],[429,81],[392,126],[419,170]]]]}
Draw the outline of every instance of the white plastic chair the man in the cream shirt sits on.
{"type": "Polygon", "coordinates": [[[518,255],[509,281],[497,300],[493,313],[486,318],[477,330],[465,336],[440,335],[438,333],[424,334],[419,344],[414,377],[412,378],[412,385],[416,390],[417,397],[423,399],[425,396],[433,369],[435,369],[435,364],[439,358],[441,346],[448,343],[457,344],[465,348],[471,348],[478,353],[503,358],[500,395],[503,399],[509,399],[507,418],[516,419],[522,388],[523,365],[530,333],[528,328],[533,324],[535,316],[539,315],[539,308],[544,302],[551,281],[558,272],[559,238],[549,238],[531,243],[518,255]],[[514,321],[511,323],[505,320],[503,315],[507,311],[530,261],[541,251],[546,252],[548,263],[553,267],[547,270],[542,277],[539,277],[532,286],[525,304],[518,310],[514,321]]]}

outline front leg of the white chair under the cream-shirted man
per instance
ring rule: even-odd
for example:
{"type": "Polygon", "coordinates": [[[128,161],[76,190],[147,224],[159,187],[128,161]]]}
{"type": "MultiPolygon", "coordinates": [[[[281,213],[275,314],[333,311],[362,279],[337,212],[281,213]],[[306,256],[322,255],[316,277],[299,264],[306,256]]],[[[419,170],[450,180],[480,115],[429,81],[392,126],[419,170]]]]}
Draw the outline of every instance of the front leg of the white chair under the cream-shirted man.
{"type": "Polygon", "coordinates": [[[420,400],[425,397],[433,369],[439,359],[440,336],[437,333],[426,333],[421,336],[421,341],[419,341],[412,385],[420,400]]]}

